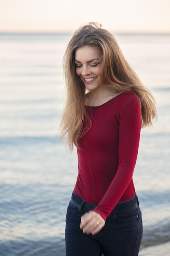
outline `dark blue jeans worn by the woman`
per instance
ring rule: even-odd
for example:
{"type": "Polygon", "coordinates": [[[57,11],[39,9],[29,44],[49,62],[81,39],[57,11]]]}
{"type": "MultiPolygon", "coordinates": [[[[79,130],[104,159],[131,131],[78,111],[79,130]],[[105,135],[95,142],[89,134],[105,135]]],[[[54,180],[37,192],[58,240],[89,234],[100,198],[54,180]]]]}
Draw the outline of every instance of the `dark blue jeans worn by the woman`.
{"type": "Polygon", "coordinates": [[[117,204],[103,229],[95,236],[84,234],[79,224],[81,216],[96,205],[84,202],[74,192],[72,199],[81,207],[79,209],[70,202],[67,208],[66,256],[138,255],[142,238],[142,220],[137,195],[117,204]],[[137,208],[132,209],[136,202],[137,208]]]}

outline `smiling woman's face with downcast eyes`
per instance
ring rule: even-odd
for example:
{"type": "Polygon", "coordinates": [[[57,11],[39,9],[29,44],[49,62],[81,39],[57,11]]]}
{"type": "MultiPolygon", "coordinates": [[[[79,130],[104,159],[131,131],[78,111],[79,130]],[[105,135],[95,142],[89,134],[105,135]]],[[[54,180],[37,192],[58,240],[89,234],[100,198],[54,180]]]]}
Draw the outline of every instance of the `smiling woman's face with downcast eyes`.
{"type": "Polygon", "coordinates": [[[82,79],[86,89],[95,90],[99,87],[99,75],[102,58],[95,47],[83,46],[75,52],[76,74],[82,79]]]}

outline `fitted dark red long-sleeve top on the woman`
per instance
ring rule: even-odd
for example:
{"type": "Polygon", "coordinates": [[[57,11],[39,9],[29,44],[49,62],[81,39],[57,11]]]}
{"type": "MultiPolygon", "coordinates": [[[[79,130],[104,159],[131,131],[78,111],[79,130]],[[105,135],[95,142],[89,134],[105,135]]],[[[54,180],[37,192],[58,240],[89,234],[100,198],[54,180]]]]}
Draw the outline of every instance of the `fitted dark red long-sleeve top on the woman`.
{"type": "MultiPolygon", "coordinates": [[[[86,106],[91,129],[80,140],[75,193],[104,220],[118,202],[135,195],[132,180],[141,130],[141,102],[121,93],[101,106],[86,106]]],[[[85,124],[84,124],[85,125],[85,124]]]]}

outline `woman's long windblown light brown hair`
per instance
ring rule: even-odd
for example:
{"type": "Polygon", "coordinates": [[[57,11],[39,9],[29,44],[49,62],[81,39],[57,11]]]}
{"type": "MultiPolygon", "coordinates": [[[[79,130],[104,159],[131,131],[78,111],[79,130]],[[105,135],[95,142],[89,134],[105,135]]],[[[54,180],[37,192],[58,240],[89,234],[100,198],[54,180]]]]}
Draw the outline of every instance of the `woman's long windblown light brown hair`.
{"type": "Polygon", "coordinates": [[[75,72],[75,51],[83,46],[96,47],[102,57],[100,84],[108,85],[115,93],[135,92],[141,101],[142,127],[152,126],[157,119],[156,104],[152,93],[143,85],[128,64],[115,39],[102,25],[91,22],[75,31],[63,58],[66,82],[66,104],[60,124],[61,138],[67,135],[67,143],[73,150],[73,143],[79,148],[79,139],[90,129],[91,120],[85,111],[86,88],[75,72]],[[86,121],[87,129],[83,130],[86,121]]]}

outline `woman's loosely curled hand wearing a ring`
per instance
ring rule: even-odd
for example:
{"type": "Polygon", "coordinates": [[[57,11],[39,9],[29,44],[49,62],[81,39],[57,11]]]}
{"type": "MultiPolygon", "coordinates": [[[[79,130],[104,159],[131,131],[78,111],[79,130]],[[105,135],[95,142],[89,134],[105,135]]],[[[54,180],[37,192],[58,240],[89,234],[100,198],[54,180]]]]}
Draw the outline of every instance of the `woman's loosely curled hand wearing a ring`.
{"type": "Polygon", "coordinates": [[[80,229],[84,234],[97,234],[105,225],[105,220],[99,213],[89,211],[81,217],[80,229]]]}

